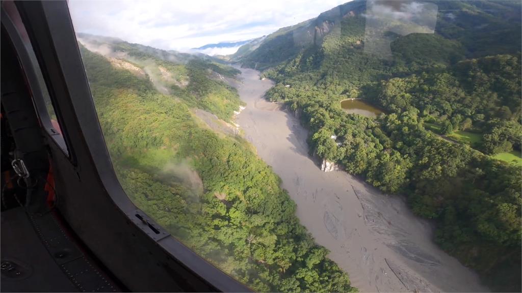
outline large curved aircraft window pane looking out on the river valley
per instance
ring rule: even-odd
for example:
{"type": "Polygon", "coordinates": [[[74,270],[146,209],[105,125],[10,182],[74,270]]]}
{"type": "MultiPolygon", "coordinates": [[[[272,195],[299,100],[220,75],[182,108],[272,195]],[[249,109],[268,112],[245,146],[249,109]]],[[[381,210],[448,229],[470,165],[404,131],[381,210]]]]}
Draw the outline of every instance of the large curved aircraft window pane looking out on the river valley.
{"type": "Polygon", "coordinates": [[[521,289],[520,1],[68,5],[121,185],[224,272],[521,289]]]}

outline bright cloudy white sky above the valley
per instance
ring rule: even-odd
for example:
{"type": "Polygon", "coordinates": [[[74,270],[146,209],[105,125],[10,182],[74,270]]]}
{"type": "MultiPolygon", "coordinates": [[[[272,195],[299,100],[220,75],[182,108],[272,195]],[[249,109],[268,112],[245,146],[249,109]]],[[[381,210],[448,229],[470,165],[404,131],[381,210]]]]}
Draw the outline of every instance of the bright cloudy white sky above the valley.
{"type": "MultiPolygon", "coordinates": [[[[70,0],[68,5],[77,33],[187,52],[209,43],[258,38],[345,2],[348,0],[70,0]]],[[[221,51],[204,53],[234,53],[221,51]]]]}

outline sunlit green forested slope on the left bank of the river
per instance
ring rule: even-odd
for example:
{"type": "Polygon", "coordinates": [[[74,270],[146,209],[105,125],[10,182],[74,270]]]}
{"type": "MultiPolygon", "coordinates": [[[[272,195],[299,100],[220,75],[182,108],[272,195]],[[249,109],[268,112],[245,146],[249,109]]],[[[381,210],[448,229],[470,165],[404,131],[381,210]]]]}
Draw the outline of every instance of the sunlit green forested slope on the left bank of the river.
{"type": "Polygon", "coordinates": [[[150,55],[134,60],[186,72],[185,87],[172,84],[173,94],[161,94],[152,77],[117,68],[83,46],[81,54],[116,174],[140,209],[257,291],[357,291],[299,223],[279,177],[252,146],[219,136],[193,114],[196,106],[230,117],[227,107],[200,100],[219,91],[226,98],[218,102],[237,109],[235,90],[210,78],[235,69],[201,59],[182,67],[150,55]]]}

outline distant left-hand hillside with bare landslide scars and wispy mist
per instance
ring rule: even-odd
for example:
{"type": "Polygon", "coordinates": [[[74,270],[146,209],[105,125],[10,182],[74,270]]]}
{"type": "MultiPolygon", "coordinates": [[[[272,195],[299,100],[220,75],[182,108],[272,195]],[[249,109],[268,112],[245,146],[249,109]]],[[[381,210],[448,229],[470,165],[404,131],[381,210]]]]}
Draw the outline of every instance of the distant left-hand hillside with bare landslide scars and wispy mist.
{"type": "Polygon", "coordinates": [[[92,35],[80,35],[79,41],[88,50],[108,58],[116,68],[148,78],[159,92],[175,94],[187,105],[204,109],[225,121],[230,121],[242,104],[236,90],[223,82],[239,70],[207,55],[163,51],[92,35]]]}

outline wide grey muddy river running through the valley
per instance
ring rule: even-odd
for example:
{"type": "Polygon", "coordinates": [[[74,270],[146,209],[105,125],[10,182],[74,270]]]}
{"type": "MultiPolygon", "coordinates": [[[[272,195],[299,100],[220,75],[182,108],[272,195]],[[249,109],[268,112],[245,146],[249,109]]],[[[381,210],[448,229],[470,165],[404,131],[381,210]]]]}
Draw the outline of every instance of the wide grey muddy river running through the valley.
{"type": "Polygon", "coordinates": [[[282,179],[297,215],[329,257],[364,292],[485,291],[468,268],[431,240],[428,223],[399,197],[388,197],[345,172],[322,172],[308,155],[306,130],[262,96],[272,82],[241,69],[247,106],[237,123],[282,179]]]}

